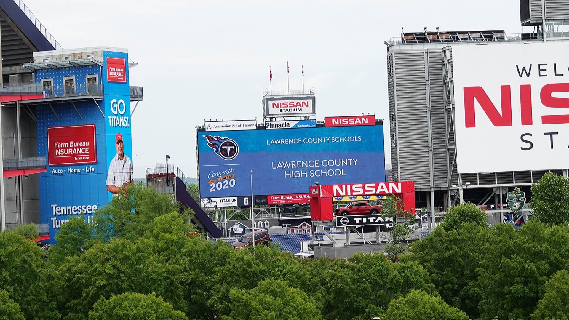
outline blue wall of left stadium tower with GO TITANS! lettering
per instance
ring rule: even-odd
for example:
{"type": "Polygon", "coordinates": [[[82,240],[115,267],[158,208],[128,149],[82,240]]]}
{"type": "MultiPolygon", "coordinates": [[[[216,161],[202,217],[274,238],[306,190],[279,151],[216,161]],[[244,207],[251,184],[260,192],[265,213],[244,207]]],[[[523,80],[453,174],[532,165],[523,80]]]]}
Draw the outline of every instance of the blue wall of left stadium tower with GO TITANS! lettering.
{"type": "MultiPolygon", "coordinates": [[[[130,90],[128,75],[128,56],[126,52],[103,51],[103,65],[38,70],[36,83],[42,79],[53,79],[54,86],[64,85],[64,77],[75,76],[76,86],[85,84],[86,75],[97,75],[98,83],[103,85],[104,99],[77,101],[75,106],[81,113],[79,117],[71,102],[54,103],[57,119],[50,105],[38,105],[38,155],[48,158],[48,128],[60,126],[94,125],[96,140],[96,163],[79,165],[50,165],[39,175],[40,221],[50,228],[50,243],[55,243],[55,234],[60,226],[71,216],[83,214],[92,219],[92,211],[105,206],[113,195],[106,188],[109,164],[117,156],[116,137],[122,134],[124,153],[132,161],[130,90]],[[109,81],[108,58],[125,60],[125,80],[109,81]],[[122,104],[123,103],[123,104],[122,104]],[[98,104],[98,106],[97,106],[98,104]],[[104,116],[101,114],[102,109],[104,116]],[[117,110],[118,109],[118,110],[117,110]],[[122,118],[114,121],[116,117],[122,118]]],[[[73,139],[73,137],[69,137],[73,139]]]]}

